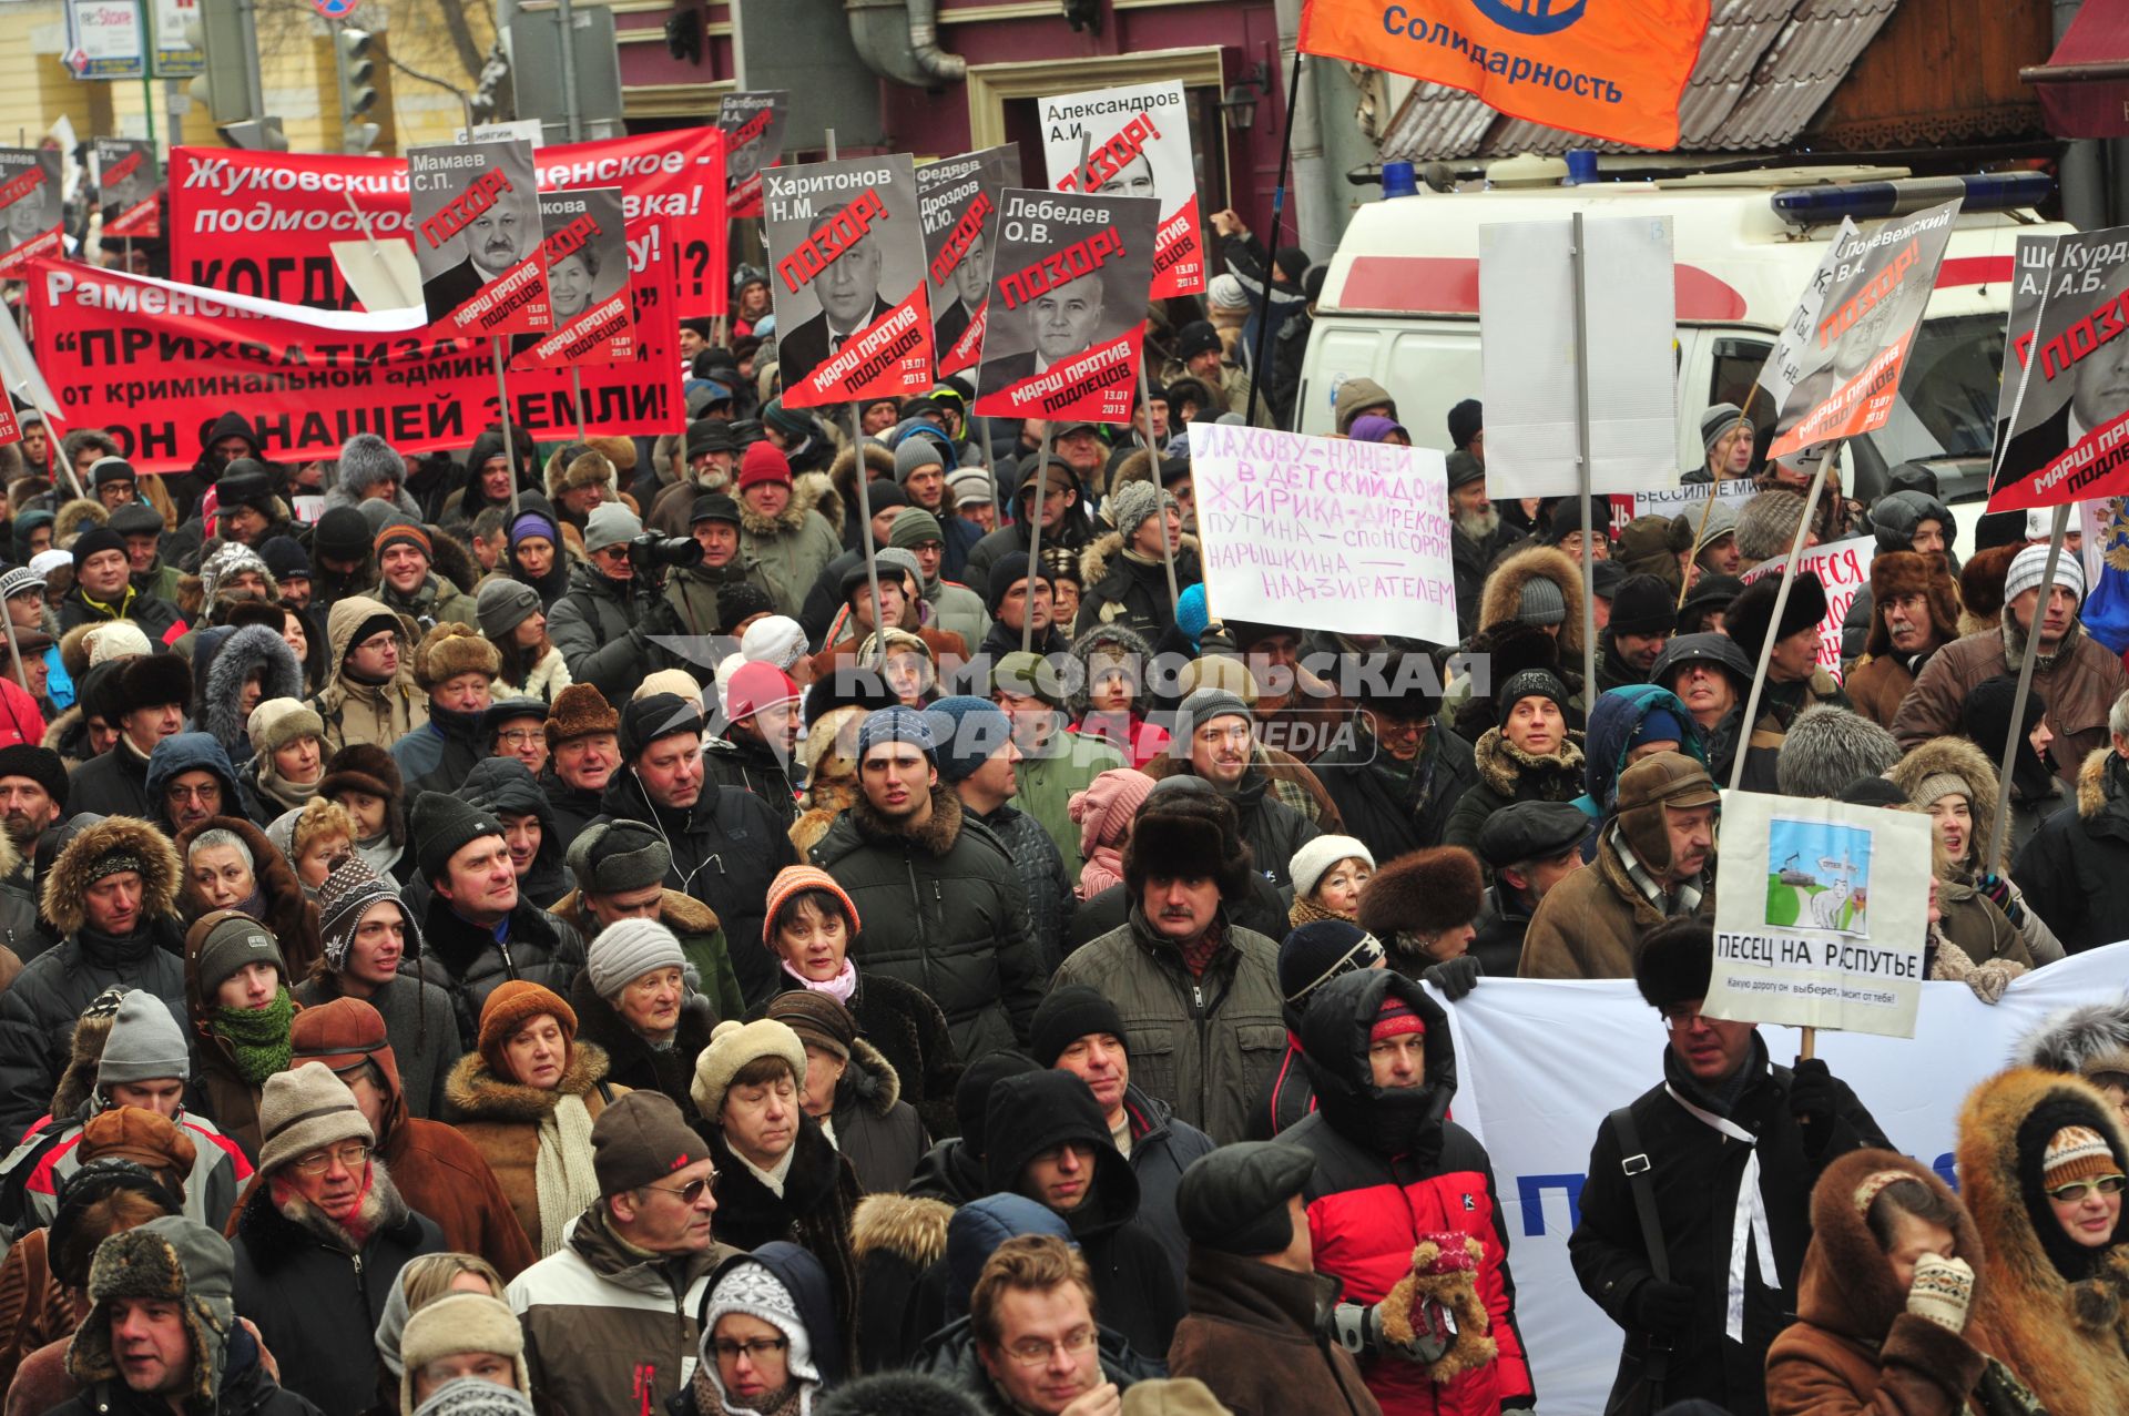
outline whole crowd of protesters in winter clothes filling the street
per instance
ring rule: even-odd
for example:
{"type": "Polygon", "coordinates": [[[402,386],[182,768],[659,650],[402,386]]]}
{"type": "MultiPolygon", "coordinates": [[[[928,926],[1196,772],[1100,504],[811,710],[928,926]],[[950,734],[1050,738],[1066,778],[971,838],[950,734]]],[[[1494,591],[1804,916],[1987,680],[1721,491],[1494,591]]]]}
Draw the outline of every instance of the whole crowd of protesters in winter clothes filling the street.
{"type": "MultiPolygon", "coordinates": [[[[1871,1077],[1701,1011],[1739,769],[1931,818],[1931,979],[2114,941],[2078,556],[1835,483],[1805,541],[1876,560],[1829,662],[1812,575],[1744,579],[1808,479],[1737,407],[1688,481],[1748,503],[1612,528],[1490,500],[1467,400],[1460,643],[1222,620],[1188,426],[1288,426],[1322,268],[1216,228],[1120,428],[945,379],[852,445],[749,270],[686,434],[290,462],[232,409],[143,475],[23,411],[9,1416],[1535,1412],[1446,1014],[1518,975],[1665,1028],[1582,1118],[1607,1410],[2129,1410],[2129,1001],[2001,1058],[1957,1195],[1871,1077]]],[[[1439,441],[1365,377],[1335,415],[1439,441]]]]}

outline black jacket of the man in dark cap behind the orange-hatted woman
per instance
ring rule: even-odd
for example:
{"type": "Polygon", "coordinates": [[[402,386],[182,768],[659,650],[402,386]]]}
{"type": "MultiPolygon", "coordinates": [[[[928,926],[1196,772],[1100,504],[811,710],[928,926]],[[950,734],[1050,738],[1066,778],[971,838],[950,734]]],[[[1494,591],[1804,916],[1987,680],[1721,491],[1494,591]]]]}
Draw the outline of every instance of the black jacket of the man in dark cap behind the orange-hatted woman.
{"type": "Polygon", "coordinates": [[[705,781],[694,807],[669,811],[649,803],[628,769],[615,769],[600,807],[603,818],[643,822],[673,847],[666,888],[692,894],[717,913],[747,1007],[781,992],[777,956],[762,948],[762,911],[777,871],[798,865],[798,847],[769,803],[754,792],[705,781]]]}

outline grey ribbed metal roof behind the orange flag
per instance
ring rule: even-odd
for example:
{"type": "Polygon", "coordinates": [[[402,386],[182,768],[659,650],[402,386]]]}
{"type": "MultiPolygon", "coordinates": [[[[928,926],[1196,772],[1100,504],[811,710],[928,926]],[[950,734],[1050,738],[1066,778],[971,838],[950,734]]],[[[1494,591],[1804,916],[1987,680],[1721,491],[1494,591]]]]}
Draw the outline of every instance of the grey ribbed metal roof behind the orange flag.
{"type": "MultiPolygon", "coordinates": [[[[1678,104],[1682,151],[1761,151],[1790,143],[1833,96],[1899,0],[1716,0],[1678,104]]],[[[1382,138],[1384,158],[1458,160],[1633,151],[1505,117],[1463,89],[1420,83],[1382,138]]]]}

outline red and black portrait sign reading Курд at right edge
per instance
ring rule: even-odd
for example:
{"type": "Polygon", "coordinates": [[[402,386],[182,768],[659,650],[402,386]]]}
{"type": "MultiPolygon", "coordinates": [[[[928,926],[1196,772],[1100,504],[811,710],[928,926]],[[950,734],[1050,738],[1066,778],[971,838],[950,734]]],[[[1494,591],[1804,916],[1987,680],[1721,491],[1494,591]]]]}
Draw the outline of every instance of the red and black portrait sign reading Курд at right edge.
{"type": "Polygon", "coordinates": [[[2018,236],[1988,509],[2129,492],[2129,226],[2018,236]]]}

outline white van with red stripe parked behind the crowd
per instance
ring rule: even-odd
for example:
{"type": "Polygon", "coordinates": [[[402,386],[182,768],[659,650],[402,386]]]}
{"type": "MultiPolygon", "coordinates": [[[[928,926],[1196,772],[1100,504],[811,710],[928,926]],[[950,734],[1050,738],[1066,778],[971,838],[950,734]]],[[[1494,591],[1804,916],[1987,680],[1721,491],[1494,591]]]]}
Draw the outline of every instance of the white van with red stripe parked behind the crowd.
{"type": "MultiPolygon", "coordinates": [[[[1901,462],[1927,462],[1948,500],[1967,500],[1988,479],[2016,241],[2074,230],[2033,213],[2048,192],[2050,179],[2037,172],[1912,179],[1905,168],[1780,168],[1588,185],[1495,179],[1486,192],[1388,198],[1354,215],[1331,258],[1297,432],[1335,432],[1339,383],[1369,377],[1397,398],[1414,443],[1446,449],[1450,407],[1480,396],[1478,228],[1561,221],[1575,211],[1656,213],[1671,217],[1678,268],[1678,466],[1699,466],[1701,413],[1746,402],[1842,215],[1867,226],[1963,196],[1899,409],[1882,430],[1852,441],[1844,464],[1848,494],[1863,500],[1901,462]]],[[[1765,447],[1773,424],[1765,398],[1752,422],[1765,447]]]]}

